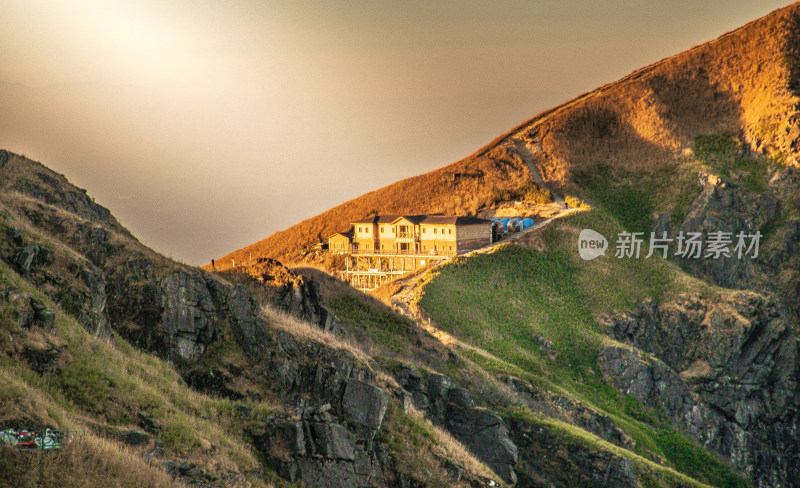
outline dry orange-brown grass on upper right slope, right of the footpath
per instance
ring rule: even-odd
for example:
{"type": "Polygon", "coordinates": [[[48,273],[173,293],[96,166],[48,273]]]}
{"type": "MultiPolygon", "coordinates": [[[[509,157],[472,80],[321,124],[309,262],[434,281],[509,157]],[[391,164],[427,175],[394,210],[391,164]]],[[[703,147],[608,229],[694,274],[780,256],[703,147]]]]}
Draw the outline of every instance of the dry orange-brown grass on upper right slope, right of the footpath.
{"type": "Polygon", "coordinates": [[[773,12],[568,102],[515,135],[540,145],[537,166],[554,183],[601,162],[657,169],[695,137],[723,132],[786,155],[792,141],[784,129],[800,101],[790,55],[798,15],[798,4],[773,12]]]}

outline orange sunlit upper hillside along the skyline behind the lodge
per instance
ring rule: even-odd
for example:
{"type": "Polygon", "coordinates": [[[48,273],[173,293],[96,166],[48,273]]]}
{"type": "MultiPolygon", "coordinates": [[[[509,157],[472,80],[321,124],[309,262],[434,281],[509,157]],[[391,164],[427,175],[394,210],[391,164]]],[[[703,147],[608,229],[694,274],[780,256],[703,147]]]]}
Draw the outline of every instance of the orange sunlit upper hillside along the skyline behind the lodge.
{"type": "Polygon", "coordinates": [[[734,134],[796,164],[800,39],[797,4],[548,110],[475,154],[367,193],[217,259],[294,259],[371,212],[471,214],[496,189],[533,178],[571,192],[598,163],[657,171],[697,136],[734,134]],[[455,175],[455,176],[454,176],[455,175]]]}

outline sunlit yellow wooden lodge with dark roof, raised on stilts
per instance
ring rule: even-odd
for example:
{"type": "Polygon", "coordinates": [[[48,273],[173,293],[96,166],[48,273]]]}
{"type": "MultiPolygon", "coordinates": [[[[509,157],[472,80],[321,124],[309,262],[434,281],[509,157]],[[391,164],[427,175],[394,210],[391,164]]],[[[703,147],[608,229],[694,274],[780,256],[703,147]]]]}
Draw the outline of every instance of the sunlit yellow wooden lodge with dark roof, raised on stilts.
{"type": "Polygon", "coordinates": [[[376,215],[351,222],[328,238],[328,251],[346,255],[342,279],[361,290],[435,261],[492,243],[492,222],[446,215],[376,215]]]}

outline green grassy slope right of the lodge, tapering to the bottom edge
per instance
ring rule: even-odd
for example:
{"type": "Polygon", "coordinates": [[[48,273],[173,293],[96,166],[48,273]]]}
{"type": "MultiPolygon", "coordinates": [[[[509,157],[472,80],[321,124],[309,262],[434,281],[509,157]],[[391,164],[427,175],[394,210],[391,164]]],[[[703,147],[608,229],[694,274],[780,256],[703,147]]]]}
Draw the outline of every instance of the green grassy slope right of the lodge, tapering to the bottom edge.
{"type": "MultiPolygon", "coordinates": [[[[628,310],[644,298],[666,300],[689,290],[715,290],[660,258],[618,260],[613,247],[610,257],[584,262],[575,252],[583,228],[607,237],[622,229],[597,210],[569,216],[541,233],[536,243],[541,250],[505,246],[440,268],[424,285],[419,305],[438,327],[502,358],[467,352],[492,373],[522,377],[610,416],[636,441],[632,454],[655,454],[706,483],[743,485],[724,463],[671,429],[660,412],[607,386],[596,366],[600,349],[610,341],[596,320],[602,314],[628,310]],[[545,341],[552,344],[550,349],[543,347],[545,341]],[[703,463],[692,461],[701,458],[703,463]]],[[[574,426],[564,424],[562,430],[599,441],[574,426]]]]}

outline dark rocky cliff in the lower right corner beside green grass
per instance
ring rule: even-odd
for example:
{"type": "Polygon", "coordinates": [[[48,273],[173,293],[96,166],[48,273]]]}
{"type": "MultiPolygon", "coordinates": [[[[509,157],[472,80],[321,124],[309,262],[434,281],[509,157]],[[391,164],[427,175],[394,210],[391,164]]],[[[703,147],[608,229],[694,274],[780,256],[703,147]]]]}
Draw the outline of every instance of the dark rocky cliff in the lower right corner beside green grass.
{"type": "Polygon", "coordinates": [[[616,339],[654,356],[605,349],[600,366],[613,384],[663,408],[756,486],[796,486],[798,339],[779,302],[753,292],[684,295],[606,323],[616,339]]]}

